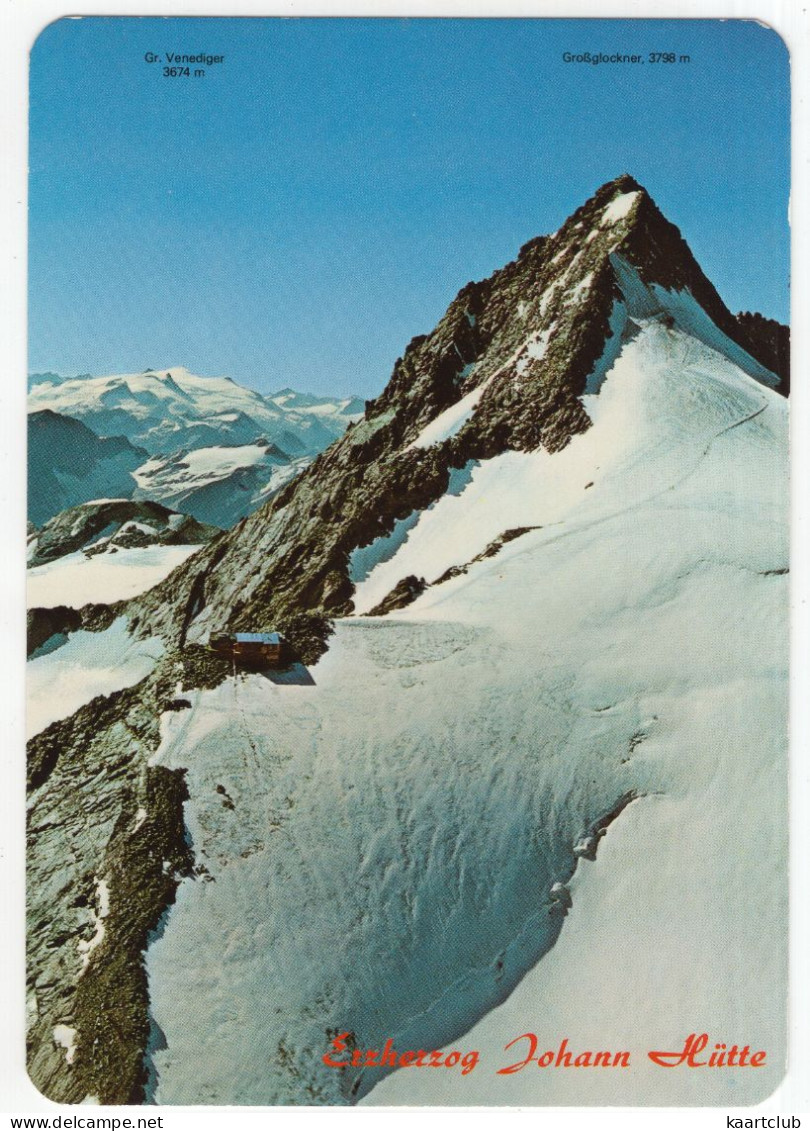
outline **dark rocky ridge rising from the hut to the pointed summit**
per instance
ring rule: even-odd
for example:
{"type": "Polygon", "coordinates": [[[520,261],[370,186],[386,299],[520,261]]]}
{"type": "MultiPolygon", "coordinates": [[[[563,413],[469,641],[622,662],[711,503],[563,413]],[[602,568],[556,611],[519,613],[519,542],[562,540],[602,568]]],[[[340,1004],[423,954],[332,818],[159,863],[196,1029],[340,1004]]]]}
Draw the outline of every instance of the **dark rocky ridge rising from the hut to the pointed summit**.
{"type": "Polygon", "coordinates": [[[647,192],[621,176],[553,235],[463,287],[437,328],[410,343],[364,418],[138,601],[136,629],[182,645],[224,628],[284,628],[302,610],[351,612],[353,551],[429,507],[454,472],[510,448],[558,451],[589,426],[579,397],[598,386],[634,316],[722,340],[747,372],[778,383],[761,336],[731,314],[647,192]]]}

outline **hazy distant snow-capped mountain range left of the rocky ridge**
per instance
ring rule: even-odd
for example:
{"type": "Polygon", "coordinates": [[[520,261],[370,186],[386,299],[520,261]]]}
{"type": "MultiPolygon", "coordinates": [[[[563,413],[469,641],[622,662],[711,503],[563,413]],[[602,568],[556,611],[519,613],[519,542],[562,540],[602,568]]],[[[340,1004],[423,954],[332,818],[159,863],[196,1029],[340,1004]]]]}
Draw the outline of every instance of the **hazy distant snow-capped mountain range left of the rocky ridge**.
{"type": "Polygon", "coordinates": [[[227,527],[362,417],[356,397],[269,397],[182,366],[28,378],[28,518],[98,495],[154,499],[227,527]]]}

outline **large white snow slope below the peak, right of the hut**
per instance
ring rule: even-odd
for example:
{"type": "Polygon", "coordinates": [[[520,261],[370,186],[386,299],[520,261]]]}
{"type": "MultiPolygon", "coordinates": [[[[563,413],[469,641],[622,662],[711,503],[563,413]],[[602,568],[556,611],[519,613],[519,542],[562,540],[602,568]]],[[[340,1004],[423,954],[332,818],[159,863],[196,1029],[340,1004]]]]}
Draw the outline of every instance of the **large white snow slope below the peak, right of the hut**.
{"type": "Polygon", "coordinates": [[[373,1071],[321,1064],[327,1029],[481,1051],[465,1078],[400,1070],[380,1103],[494,1102],[527,1030],[628,1048],[634,1069],[532,1065],[494,1078],[498,1103],[730,1104],[779,1079],[785,403],[650,321],[586,404],[562,454],[483,463],[377,569],[466,554],[465,500],[479,549],[541,529],[405,612],[338,622],[314,684],[229,681],[164,719],[156,761],[187,768],[215,882],[181,884],[147,956],[158,1103],[364,1095],[373,1071]],[[604,858],[577,865],[630,796],[604,858]],[[552,889],[575,867],[562,926],[552,889]],[[767,1070],[645,1063],[706,1027],[767,1070]]]}

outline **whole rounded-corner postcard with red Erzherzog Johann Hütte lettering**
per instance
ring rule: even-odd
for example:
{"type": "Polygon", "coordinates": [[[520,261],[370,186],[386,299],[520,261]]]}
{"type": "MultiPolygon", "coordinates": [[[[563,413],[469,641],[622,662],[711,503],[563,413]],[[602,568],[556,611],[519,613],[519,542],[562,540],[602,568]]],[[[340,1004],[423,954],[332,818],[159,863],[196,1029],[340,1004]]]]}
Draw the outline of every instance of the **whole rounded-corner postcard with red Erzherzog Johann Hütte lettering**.
{"type": "Polygon", "coordinates": [[[29,152],[36,1088],[769,1096],[779,35],[64,18],[29,152]]]}

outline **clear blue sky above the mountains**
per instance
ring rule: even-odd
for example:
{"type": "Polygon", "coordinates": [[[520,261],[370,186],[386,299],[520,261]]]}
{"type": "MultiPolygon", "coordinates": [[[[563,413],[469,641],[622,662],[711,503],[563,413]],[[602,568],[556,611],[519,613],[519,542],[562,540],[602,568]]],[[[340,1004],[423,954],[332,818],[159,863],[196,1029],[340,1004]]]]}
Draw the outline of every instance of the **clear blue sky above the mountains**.
{"type": "Polygon", "coordinates": [[[622,172],[732,310],[789,318],[789,60],[753,21],[63,19],[31,75],[32,370],[372,396],[622,172]]]}

